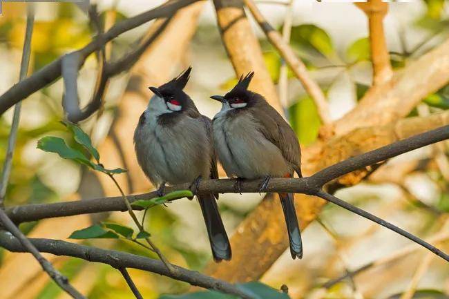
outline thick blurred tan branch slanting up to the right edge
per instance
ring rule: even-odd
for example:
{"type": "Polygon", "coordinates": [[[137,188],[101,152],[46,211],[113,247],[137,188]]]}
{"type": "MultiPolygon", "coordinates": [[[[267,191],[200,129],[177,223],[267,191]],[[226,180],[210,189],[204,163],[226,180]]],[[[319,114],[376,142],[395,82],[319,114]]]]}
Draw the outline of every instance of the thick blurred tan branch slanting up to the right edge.
{"type": "Polygon", "coordinates": [[[391,124],[449,82],[449,39],[367,91],[359,104],[334,124],[336,135],[369,126],[391,124]]]}

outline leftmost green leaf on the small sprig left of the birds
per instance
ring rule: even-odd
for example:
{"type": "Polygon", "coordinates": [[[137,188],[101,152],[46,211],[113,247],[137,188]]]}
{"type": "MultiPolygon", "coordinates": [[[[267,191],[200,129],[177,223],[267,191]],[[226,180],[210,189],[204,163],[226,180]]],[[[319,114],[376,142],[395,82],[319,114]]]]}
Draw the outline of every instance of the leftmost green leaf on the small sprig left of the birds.
{"type": "Polygon", "coordinates": [[[42,151],[57,153],[64,159],[73,160],[90,168],[95,168],[95,164],[90,162],[82,152],[70,148],[62,138],[53,136],[43,137],[37,142],[37,148],[42,151]]]}

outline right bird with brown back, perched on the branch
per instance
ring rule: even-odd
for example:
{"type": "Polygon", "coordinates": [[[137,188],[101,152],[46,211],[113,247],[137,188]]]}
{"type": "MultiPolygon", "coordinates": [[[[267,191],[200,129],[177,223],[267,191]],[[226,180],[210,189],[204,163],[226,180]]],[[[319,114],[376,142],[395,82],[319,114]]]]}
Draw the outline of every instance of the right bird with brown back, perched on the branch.
{"type": "MultiPolygon", "coordinates": [[[[242,180],[262,179],[263,191],[270,177],[293,177],[300,169],[300,145],[292,127],[268,104],[265,97],[248,90],[254,72],[241,76],[225,96],[213,95],[222,104],[213,117],[213,144],[236,192],[242,180]]],[[[283,207],[292,258],[303,257],[293,193],[278,193],[283,207]]]]}

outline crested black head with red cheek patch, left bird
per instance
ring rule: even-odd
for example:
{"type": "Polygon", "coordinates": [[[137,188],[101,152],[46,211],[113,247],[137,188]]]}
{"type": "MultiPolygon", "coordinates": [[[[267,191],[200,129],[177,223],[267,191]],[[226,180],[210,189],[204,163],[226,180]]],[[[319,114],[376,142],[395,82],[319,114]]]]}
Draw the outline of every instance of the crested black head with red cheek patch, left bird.
{"type": "Polygon", "coordinates": [[[172,111],[185,110],[191,105],[191,99],[187,93],[184,93],[183,89],[187,85],[190,78],[190,72],[192,68],[189,67],[184,70],[178,77],[171,79],[166,84],[162,84],[159,87],[149,87],[151,91],[157,97],[164,99],[164,102],[172,111]]]}

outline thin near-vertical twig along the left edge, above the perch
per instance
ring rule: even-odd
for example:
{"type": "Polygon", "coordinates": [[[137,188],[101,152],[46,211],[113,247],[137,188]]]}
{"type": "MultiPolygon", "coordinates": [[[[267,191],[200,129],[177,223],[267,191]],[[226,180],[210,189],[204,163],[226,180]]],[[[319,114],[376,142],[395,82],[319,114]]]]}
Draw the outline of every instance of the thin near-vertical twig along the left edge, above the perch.
{"type": "MultiPolygon", "coordinates": [[[[25,30],[25,40],[23,41],[22,50],[22,61],[20,64],[20,75],[19,81],[26,78],[28,73],[28,65],[30,64],[30,53],[31,53],[31,37],[32,28],[35,23],[35,12],[34,6],[30,4],[28,6],[28,12],[26,17],[26,30],[25,30]]],[[[10,179],[11,166],[12,166],[12,155],[14,154],[14,148],[16,146],[17,131],[19,130],[20,121],[20,109],[21,103],[17,103],[14,108],[14,115],[12,117],[11,131],[8,138],[8,148],[6,149],[5,162],[3,164],[3,171],[1,174],[0,182],[0,209],[3,207],[3,200],[6,195],[6,188],[8,187],[8,181],[10,179]]]]}

